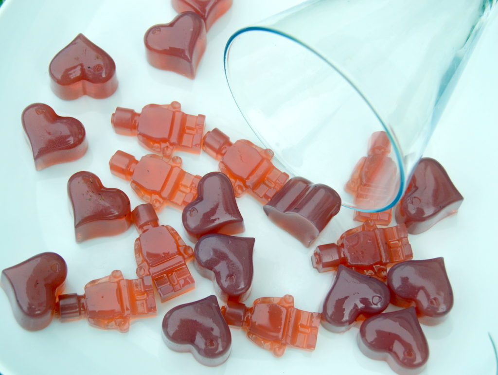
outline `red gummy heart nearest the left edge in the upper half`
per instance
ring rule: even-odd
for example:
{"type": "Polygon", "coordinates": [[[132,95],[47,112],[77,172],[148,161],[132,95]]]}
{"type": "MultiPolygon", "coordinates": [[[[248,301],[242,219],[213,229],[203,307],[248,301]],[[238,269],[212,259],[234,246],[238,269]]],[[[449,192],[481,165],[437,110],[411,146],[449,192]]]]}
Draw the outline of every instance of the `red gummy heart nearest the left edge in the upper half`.
{"type": "Polygon", "coordinates": [[[27,106],[21,120],[36,170],[79,159],[87,151],[83,124],[73,117],[57,116],[46,104],[27,106]]]}

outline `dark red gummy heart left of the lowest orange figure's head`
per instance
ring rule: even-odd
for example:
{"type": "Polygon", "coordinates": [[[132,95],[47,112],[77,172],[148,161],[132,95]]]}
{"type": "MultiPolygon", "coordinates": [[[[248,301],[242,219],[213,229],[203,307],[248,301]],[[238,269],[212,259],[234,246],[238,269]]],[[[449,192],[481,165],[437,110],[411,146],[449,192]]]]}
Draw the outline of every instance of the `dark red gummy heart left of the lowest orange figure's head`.
{"type": "Polygon", "coordinates": [[[203,365],[221,365],[230,355],[232,335],[214,295],[169,310],[162,332],[168,348],[191,352],[203,365]]]}

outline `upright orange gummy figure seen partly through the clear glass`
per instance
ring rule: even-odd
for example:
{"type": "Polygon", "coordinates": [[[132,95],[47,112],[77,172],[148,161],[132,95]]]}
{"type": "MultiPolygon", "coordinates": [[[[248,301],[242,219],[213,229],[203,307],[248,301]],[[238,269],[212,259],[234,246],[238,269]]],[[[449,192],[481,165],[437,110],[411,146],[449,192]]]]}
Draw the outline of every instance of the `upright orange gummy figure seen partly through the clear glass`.
{"type": "MultiPolygon", "coordinates": [[[[362,157],[355,166],[345,190],[354,195],[354,202],[362,208],[375,208],[384,205],[395,188],[396,165],[387,156],[391,152],[391,142],[385,131],[374,132],[369,139],[368,156],[362,157]]],[[[382,212],[356,211],[354,220],[373,220],[378,225],[389,225],[392,210],[382,212]]]]}

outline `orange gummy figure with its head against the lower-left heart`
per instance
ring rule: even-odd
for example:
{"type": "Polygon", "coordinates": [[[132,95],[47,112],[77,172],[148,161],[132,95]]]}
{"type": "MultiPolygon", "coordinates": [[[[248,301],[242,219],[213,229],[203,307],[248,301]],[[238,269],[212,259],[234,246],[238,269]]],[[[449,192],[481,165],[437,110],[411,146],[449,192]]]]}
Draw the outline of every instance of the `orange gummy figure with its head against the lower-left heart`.
{"type": "Polygon", "coordinates": [[[62,322],[87,317],[94,327],[120,332],[128,331],[130,319],[156,312],[150,276],[127,280],[119,270],[90,281],[84,295],[61,294],[56,306],[56,316],[62,322]]]}

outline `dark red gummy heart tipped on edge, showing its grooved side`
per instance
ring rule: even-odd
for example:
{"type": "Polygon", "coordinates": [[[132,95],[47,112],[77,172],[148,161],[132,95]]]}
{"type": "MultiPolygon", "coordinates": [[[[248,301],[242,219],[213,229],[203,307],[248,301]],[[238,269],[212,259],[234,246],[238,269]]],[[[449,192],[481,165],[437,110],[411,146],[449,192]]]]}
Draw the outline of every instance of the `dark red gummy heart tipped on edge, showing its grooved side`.
{"type": "Polygon", "coordinates": [[[322,184],[293,177],[263,206],[268,218],[309,247],[341,208],[341,197],[322,184]]]}

